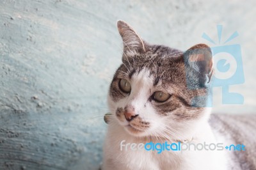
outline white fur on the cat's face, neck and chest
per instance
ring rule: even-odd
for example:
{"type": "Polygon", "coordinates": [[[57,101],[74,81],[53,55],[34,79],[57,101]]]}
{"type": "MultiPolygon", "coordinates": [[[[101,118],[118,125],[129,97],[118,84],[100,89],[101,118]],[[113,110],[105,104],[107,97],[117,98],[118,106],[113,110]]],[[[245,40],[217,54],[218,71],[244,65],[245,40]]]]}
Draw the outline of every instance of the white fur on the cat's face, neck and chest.
{"type": "MultiPolygon", "coordinates": [[[[163,151],[160,154],[157,154],[156,151],[146,150],[121,151],[120,143],[124,140],[125,143],[148,143],[150,141],[164,143],[168,139],[182,141],[193,137],[193,143],[216,143],[207,123],[209,109],[205,110],[205,116],[200,120],[188,121],[181,125],[173,121],[172,117],[166,119],[159,116],[150,104],[144,107],[147,98],[152,95],[150,90],[151,93],[157,91],[157,88],[154,89],[152,86],[153,79],[149,77],[148,70],[142,70],[139,74],[132,76],[130,81],[131,94],[118,102],[113,102],[109,97],[109,109],[115,115],[117,107],[124,108],[127,105],[132,105],[142,120],[150,122],[150,128],[141,134],[134,135],[125,127],[129,125],[126,120],[120,121],[114,116],[106,134],[102,169],[227,169],[223,151],[184,151],[183,153],[163,151]],[[179,136],[160,132],[159,127],[164,128],[163,126],[168,123],[172,124],[172,127],[177,127],[179,136]],[[166,139],[166,136],[170,138],[166,139]]],[[[169,141],[169,143],[172,142],[169,141]]]]}

